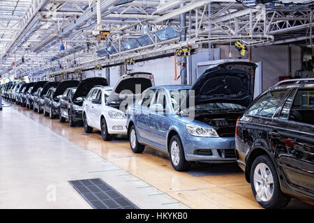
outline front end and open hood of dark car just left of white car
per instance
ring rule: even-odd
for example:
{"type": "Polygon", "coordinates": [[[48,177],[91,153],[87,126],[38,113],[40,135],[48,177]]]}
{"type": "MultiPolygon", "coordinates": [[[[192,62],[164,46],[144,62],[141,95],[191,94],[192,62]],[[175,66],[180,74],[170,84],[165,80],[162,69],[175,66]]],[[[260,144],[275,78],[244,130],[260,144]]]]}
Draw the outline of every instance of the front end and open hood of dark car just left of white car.
{"type": "Polygon", "coordinates": [[[107,79],[103,77],[91,77],[82,80],[80,85],[77,86],[75,93],[68,101],[68,119],[71,127],[74,127],[77,122],[83,121],[83,101],[89,91],[97,85],[107,86],[107,79]]]}

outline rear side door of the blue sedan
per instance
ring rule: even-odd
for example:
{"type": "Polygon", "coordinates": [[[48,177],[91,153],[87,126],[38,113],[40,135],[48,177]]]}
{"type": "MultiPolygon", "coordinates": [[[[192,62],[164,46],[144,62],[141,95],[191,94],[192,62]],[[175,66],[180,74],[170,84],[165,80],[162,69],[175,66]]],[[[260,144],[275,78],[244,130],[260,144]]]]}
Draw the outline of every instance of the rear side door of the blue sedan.
{"type": "Polygon", "coordinates": [[[150,141],[151,139],[151,102],[154,100],[156,89],[148,89],[142,93],[140,100],[135,106],[135,125],[140,139],[150,141]]]}

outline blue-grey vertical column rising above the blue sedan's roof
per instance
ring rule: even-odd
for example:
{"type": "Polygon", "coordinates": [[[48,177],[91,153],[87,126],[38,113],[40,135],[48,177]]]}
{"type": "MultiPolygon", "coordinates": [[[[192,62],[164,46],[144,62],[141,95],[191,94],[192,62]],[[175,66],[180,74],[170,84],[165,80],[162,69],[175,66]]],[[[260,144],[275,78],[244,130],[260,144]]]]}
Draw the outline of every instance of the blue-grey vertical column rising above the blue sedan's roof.
{"type": "MultiPolygon", "coordinates": [[[[180,7],[184,7],[185,3],[181,3],[180,7]]],[[[180,15],[180,41],[184,42],[186,41],[186,13],[182,13],[180,15]]],[[[186,57],[181,57],[181,84],[188,84],[187,79],[187,59],[186,57]]]]}

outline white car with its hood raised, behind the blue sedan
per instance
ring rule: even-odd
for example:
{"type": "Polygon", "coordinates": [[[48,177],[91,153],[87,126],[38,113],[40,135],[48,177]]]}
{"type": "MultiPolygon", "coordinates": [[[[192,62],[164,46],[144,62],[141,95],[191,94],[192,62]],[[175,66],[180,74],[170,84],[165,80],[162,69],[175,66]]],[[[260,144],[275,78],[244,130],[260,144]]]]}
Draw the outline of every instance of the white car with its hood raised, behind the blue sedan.
{"type": "Polygon", "coordinates": [[[105,141],[110,141],[112,134],[127,134],[126,98],[131,102],[154,85],[154,75],[135,72],[120,77],[113,88],[95,86],[83,102],[84,131],[91,133],[93,128],[101,130],[105,141]]]}

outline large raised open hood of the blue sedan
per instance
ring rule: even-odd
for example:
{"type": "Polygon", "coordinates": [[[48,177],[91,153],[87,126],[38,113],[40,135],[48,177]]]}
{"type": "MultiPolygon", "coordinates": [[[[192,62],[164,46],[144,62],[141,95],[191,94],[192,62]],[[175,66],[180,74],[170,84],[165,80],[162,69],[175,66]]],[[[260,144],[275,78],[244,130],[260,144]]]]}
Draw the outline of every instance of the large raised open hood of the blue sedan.
{"type": "Polygon", "coordinates": [[[253,100],[255,68],[255,63],[241,61],[210,66],[196,80],[184,105],[190,106],[191,91],[194,91],[195,105],[222,102],[248,107],[253,100]]]}

